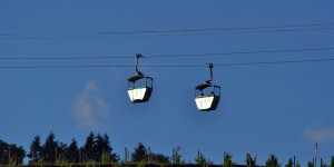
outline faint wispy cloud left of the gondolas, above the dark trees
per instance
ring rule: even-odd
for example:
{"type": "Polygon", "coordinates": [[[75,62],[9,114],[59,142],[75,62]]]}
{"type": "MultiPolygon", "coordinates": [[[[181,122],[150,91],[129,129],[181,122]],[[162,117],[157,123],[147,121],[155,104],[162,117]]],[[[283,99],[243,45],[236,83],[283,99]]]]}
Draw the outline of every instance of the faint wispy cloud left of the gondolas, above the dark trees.
{"type": "Polygon", "coordinates": [[[72,112],[78,125],[87,129],[96,128],[108,116],[109,111],[110,107],[99,95],[96,82],[94,80],[87,81],[72,106],[72,112]]]}

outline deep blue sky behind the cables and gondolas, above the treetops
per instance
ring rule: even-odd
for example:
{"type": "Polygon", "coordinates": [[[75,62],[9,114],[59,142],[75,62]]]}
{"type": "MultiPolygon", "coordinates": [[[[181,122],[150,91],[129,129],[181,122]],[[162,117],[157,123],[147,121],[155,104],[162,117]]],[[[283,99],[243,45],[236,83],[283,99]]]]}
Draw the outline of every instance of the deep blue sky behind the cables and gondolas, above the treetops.
{"type": "MultiPolygon", "coordinates": [[[[1,35],[96,33],[333,23],[333,1],[0,1],[1,35]]],[[[2,36],[3,37],[3,36],[2,36]]],[[[0,39],[0,57],[144,56],[326,48],[328,30],[194,36],[0,39]]],[[[333,58],[333,50],[178,58],[144,58],[140,65],[205,65],[333,58]]],[[[0,66],[134,65],[134,59],[1,60],[0,66]]],[[[222,87],[215,112],[199,112],[194,87],[203,68],[140,68],[155,78],[147,104],[132,105],[127,78],[135,68],[0,69],[0,138],[24,146],[53,130],[58,140],[107,132],[117,154],[139,141],[186,161],[199,149],[214,163],[224,151],[244,164],[275,154],[306,165],[334,155],[334,62],[215,67],[222,87]]]]}

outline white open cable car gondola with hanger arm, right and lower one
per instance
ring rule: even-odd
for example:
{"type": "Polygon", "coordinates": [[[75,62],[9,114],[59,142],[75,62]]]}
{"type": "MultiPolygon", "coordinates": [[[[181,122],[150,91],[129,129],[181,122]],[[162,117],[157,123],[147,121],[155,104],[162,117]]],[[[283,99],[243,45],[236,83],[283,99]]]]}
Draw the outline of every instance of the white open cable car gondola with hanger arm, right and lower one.
{"type": "Polygon", "coordinates": [[[200,111],[215,110],[220,99],[220,87],[212,84],[214,65],[207,63],[207,67],[210,68],[210,80],[195,88],[195,102],[200,111]]]}

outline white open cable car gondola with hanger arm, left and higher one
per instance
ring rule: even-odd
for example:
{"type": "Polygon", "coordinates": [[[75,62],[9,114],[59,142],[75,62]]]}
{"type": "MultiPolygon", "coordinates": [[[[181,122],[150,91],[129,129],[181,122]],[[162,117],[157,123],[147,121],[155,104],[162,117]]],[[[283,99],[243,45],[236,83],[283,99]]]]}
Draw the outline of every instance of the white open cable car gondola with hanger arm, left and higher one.
{"type": "Polygon", "coordinates": [[[144,76],[138,70],[138,59],[141,57],[139,53],[136,55],[137,75],[128,79],[128,95],[132,104],[148,101],[153,91],[153,78],[144,76]]]}

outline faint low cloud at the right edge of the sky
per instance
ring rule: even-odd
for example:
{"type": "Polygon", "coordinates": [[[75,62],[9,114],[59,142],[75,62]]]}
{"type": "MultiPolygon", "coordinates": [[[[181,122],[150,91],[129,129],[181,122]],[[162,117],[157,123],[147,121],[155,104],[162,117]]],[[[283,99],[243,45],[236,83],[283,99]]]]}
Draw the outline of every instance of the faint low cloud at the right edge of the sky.
{"type": "Polygon", "coordinates": [[[314,143],[334,140],[334,126],[317,129],[306,129],[305,135],[314,143]]]}

